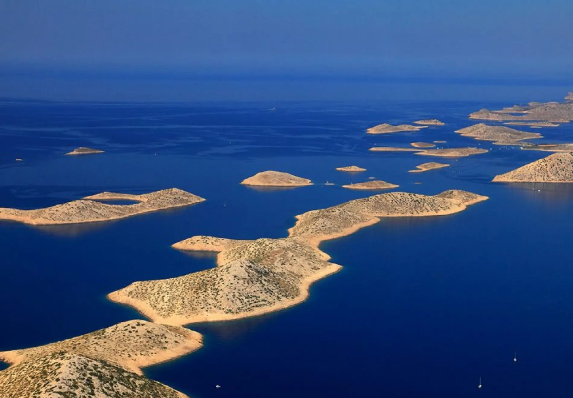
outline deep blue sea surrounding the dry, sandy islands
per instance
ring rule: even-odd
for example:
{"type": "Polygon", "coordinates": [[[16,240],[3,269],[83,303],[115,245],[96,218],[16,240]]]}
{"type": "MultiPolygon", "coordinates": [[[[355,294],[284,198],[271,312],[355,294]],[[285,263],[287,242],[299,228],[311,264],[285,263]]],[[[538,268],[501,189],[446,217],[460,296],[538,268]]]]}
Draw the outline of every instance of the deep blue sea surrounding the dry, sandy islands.
{"type": "MultiPolygon", "coordinates": [[[[539,99],[547,98],[515,102],[539,99]]],[[[375,177],[401,191],[455,188],[490,200],[455,215],[383,219],[325,243],[322,249],[344,268],[313,285],[308,301],[268,316],[191,325],[205,335],[205,346],[146,375],[194,398],[570,397],[573,186],[491,183],[549,153],[454,133],[475,123],[466,119],[470,112],[512,104],[495,97],[480,103],[4,101],[0,207],[169,187],[207,201],[107,223],[1,222],[0,350],[141,318],[105,295],[134,281],[214,266],[212,257],[180,253],[172,243],[193,235],[285,237],[297,214],[378,193],[340,187],[375,177]],[[364,133],[379,123],[425,118],[446,125],[364,133]],[[457,160],[367,151],[434,140],[447,141],[439,147],[492,150],[457,160]],[[63,156],[79,146],[105,153],[63,156]],[[452,167],[407,172],[426,161],[452,167]],[[351,164],[368,171],[335,170],[351,164]],[[260,191],[239,184],[264,170],[316,185],[260,191]]],[[[542,133],[540,142],[573,142],[573,123],[523,129],[542,133]]]]}

